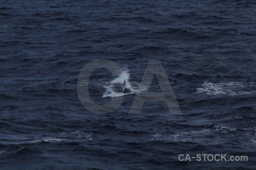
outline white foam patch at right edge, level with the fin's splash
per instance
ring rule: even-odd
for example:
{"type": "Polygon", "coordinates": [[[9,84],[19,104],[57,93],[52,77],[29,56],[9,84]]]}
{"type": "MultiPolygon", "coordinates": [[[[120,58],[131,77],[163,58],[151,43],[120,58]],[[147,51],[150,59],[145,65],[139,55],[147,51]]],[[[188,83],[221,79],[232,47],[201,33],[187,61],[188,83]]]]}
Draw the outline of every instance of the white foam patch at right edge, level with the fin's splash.
{"type": "Polygon", "coordinates": [[[256,94],[256,82],[204,82],[197,88],[198,94],[207,95],[251,95],[256,94]]]}

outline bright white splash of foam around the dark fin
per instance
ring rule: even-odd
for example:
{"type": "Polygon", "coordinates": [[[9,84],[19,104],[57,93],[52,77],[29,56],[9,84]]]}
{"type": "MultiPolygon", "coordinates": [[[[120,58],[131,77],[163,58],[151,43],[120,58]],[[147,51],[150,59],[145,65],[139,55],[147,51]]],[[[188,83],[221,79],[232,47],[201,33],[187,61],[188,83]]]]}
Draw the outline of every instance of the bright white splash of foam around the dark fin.
{"type": "Polygon", "coordinates": [[[126,68],[123,68],[121,74],[112,80],[111,82],[106,82],[106,85],[103,86],[105,88],[105,93],[102,97],[119,97],[119,96],[124,96],[124,95],[129,95],[129,94],[134,94],[138,90],[138,83],[131,83],[130,82],[130,73],[129,70],[126,68]],[[125,85],[122,87],[123,81],[125,80],[125,85]],[[124,88],[127,88],[130,90],[130,93],[124,94],[122,90],[124,88]]]}

